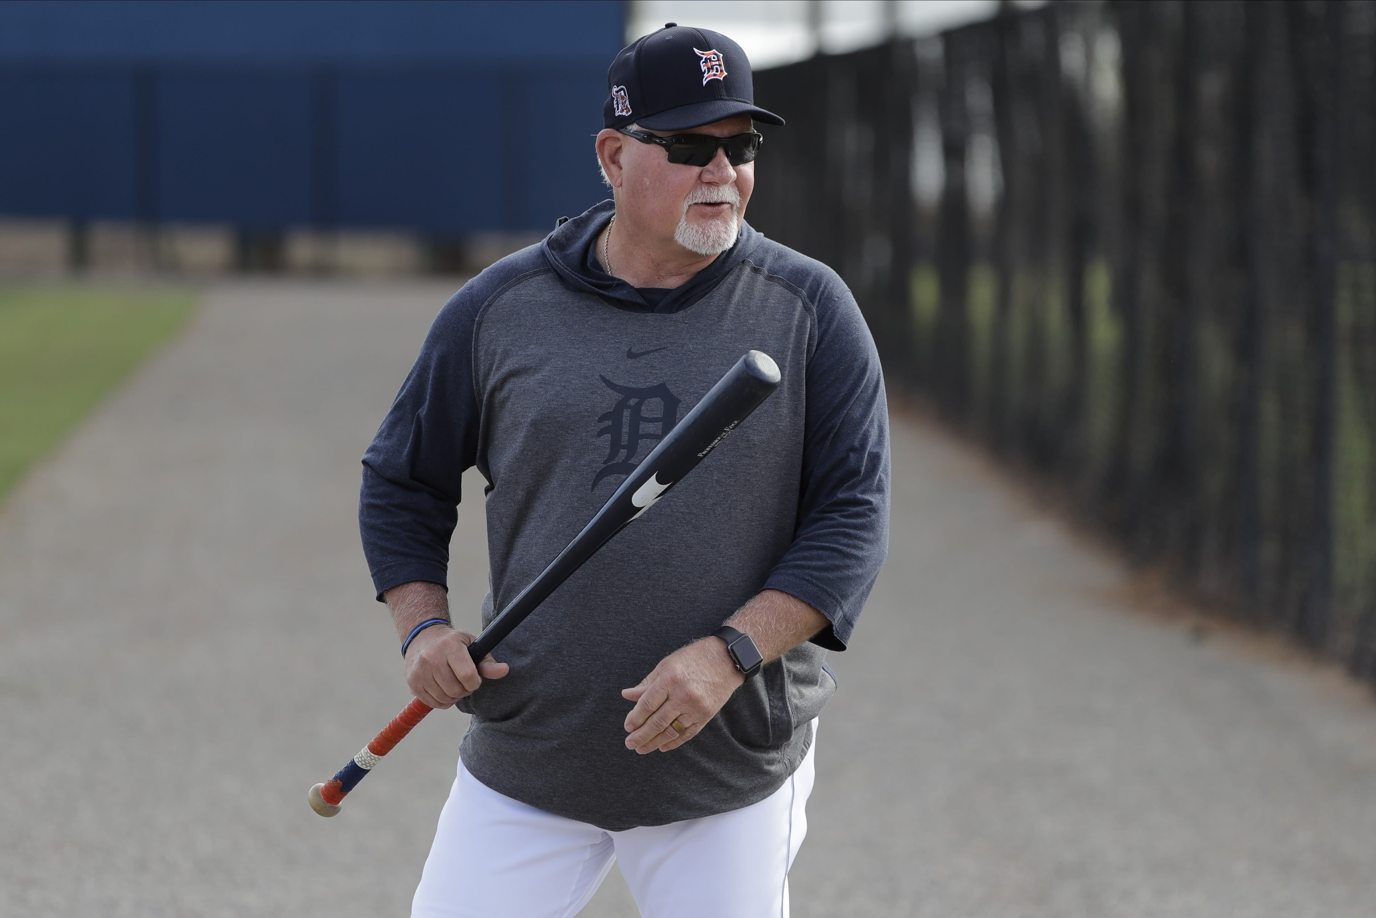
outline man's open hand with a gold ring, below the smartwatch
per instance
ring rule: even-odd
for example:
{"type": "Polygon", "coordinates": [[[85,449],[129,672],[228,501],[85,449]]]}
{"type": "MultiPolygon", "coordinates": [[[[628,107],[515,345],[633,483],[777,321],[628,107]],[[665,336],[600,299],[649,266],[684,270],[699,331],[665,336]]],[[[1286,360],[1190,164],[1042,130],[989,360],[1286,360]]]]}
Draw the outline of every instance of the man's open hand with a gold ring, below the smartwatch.
{"type": "Polygon", "coordinates": [[[638,685],[622,691],[622,698],[636,702],[626,716],[626,749],[640,754],[678,749],[717,716],[744,681],[720,637],[703,637],[676,650],[638,685]],[[687,729],[674,729],[674,720],[687,729]]]}

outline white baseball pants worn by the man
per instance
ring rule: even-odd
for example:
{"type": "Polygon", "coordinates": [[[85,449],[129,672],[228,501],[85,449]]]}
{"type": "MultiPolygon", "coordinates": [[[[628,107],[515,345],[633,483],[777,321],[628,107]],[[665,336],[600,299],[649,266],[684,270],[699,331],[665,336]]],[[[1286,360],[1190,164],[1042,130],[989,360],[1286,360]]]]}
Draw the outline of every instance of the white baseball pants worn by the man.
{"type": "Polygon", "coordinates": [[[787,918],[815,749],[758,804],[625,831],[498,794],[460,762],[411,918],[572,918],[614,862],[644,918],[787,918]]]}

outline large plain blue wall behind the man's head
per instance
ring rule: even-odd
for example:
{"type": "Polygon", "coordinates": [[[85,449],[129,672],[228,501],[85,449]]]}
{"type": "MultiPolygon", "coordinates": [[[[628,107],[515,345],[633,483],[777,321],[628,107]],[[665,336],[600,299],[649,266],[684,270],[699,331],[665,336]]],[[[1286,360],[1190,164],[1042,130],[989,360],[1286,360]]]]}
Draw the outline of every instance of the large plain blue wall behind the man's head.
{"type": "Polygon", "coordinates": [[[0,213],[545,230],[605,197],[616,0],[0,3],[0,213]]]}

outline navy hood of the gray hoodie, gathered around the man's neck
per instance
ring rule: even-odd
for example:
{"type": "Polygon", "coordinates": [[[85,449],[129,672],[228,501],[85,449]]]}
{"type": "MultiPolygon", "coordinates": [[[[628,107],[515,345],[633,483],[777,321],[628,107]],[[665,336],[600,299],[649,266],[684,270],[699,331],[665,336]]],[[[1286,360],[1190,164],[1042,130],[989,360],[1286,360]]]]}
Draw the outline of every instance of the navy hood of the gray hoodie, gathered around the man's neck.
{"type": "Polygon", "coordinates": [[[564,220],[545,237],[541,249],[564,286],[583,293],[596,293],[610,306],[634,312],[678,312],[688,308],[711,292],[740,261],[750,257],[750,253],[764,238],[742,220],[735,245],[718,255],[711,264],[698,271],[687,284],[674,288],[659,306],[651,306],[636,288],[603,271],[593,252],[593,246],[611,222],[615,209],[615,202],[601,201],[578,216],[564,220]]]}

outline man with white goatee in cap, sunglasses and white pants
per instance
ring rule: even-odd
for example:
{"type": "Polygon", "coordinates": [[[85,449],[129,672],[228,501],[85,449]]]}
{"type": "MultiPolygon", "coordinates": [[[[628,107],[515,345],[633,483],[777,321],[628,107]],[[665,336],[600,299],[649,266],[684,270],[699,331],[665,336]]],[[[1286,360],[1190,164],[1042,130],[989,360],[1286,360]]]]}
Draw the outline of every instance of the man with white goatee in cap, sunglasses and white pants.
{"type": "Polygon", "coordinates": [[[615,200],[444,306],[363,460],[407,685],[473,714],[413,915],[574,915],[614,860],[645,915],[787,914],[824,648],[885,555],[874,343],[832,271],[743,220],[753,121],[783,124],[746,55],[669,23],[607,94],[615,200]],[[444,592],[461,472],[487,480],[486,623],[751,348],[779,391],[475,668],[444,592]]]}

